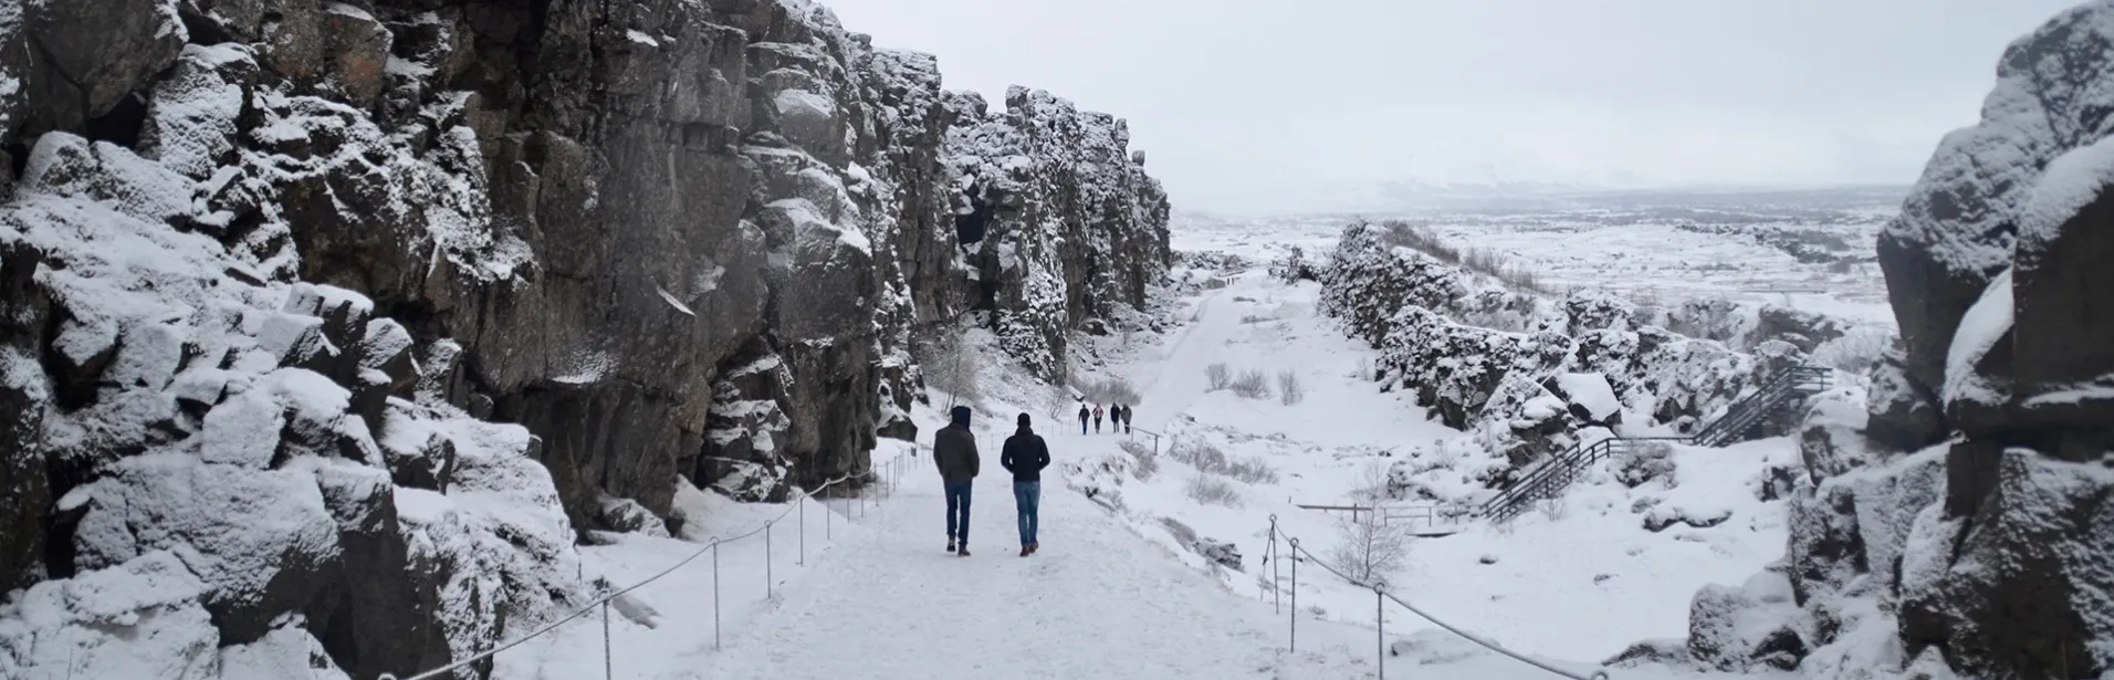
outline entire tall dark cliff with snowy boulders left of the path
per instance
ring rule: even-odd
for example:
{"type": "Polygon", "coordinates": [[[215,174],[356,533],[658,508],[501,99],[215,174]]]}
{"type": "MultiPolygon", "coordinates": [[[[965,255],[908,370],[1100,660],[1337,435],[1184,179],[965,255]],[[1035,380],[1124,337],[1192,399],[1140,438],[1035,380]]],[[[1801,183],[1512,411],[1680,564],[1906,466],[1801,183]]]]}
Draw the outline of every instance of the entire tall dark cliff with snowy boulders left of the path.
{"type": "Polygon", "coordinates": [[[939,84],[805,0],[0,8],[0,676],[440,665],[915,435],[917,332],[1061,374],[1165,192],[939,84]]]}

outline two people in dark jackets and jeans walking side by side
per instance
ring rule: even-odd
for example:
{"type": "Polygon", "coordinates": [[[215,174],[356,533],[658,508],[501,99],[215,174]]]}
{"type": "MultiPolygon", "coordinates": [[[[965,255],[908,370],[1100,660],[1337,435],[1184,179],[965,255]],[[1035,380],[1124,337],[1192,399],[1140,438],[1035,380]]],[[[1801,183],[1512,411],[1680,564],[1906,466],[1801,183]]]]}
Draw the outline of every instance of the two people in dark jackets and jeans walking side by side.
{"type": "MultiPolygon", "coordinates": [[[[977,435],[968,431],[968,408],[956,405],[951,424],[932,435],[932,462],[947,490],[947,551],[968,558],[968,498],[977,479],[981,458],[977,456],[977,435]]],[[[1042,547],[1036,541],[1042,509],[1042,469],[1051,467],[1051,448],[1036,435],[1027,414],[1015,418],[1019,429],[1006,437],[1006,448],[998,456],[1013,473],[1013,505],[1019,509],[1021,558],[1042,547]]]]}

